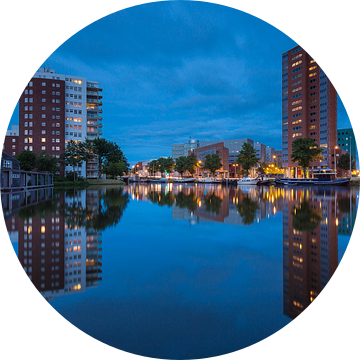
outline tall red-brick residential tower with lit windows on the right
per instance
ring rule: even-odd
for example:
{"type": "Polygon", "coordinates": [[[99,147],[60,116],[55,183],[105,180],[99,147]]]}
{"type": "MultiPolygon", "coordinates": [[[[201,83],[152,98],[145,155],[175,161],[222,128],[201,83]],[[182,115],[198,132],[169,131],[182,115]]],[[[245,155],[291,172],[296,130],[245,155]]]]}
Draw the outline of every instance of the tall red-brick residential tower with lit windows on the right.
{"type": "Polygon", "coordinates": [[[337,143],[337,91],[316,60],[301,46],[282,54],[282,166],[285,177],[302,177],[291,161],[292,141],[311,138],[324,160],[312,168],[334,168],[337,143]]]}

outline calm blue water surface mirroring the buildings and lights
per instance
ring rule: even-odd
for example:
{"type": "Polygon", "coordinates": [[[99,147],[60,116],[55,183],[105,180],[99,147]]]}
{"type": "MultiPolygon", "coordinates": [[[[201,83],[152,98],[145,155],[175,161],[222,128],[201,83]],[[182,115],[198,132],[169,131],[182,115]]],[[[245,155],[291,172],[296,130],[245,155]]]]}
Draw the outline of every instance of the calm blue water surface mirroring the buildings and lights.
{"type": "Polygon", "coordinates": [[[132,354],[199,359],[275,334],[339,266],[356,188],[131,185],[2,196],[15,254],[64,319],[132,354]]]}

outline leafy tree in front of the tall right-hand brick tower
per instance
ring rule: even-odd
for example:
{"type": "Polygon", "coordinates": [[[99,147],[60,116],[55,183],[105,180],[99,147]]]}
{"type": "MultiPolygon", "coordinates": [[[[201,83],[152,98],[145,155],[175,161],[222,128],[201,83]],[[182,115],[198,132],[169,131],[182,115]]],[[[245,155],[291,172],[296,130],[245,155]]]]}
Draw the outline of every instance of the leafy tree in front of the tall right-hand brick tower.
{"type": "Polygon", "coordinates": [[[322,149],[311,138],[298,138],[292,143],[291,160],[297,162],[304,170],[309,167],[310,163],[324,159],[320,154],[322,149]]]}

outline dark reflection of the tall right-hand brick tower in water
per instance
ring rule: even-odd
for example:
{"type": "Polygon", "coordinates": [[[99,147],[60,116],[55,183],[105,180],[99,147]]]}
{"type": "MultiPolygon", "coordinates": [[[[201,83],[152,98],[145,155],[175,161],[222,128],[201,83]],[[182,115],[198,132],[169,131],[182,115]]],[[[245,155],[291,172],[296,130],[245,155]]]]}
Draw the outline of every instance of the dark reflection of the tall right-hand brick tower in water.
{"type": "MultiPolygon", "coordinates": [[[[350,191],[287,189],[283,205],[283,311],[292,319],[320,295],[338,267],[338,227],[350,191]]],[[[355,198],[354,198],[355,202],[355,198]]]]}

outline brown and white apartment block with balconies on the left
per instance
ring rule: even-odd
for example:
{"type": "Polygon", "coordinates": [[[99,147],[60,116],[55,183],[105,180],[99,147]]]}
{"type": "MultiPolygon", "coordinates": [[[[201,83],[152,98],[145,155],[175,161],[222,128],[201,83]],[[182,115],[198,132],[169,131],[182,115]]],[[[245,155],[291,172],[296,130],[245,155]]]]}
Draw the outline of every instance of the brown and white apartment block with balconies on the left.
{"type": "MultiPolygon", "coordinates": [[[[12,156],[23,150],[36,155],[45,151],[59,158],[68,141],[94,140],[102,135],[101,92],[97,82],[85,77],[39,68],[20,95],[19,125],[6,132],[3,150],[12,156]]],[[[62,168],[60,175],[65,171],[62,168]]],[[[87,167],[84,163],[79,175],[97,177],[97,160],[87,167]]]]}

